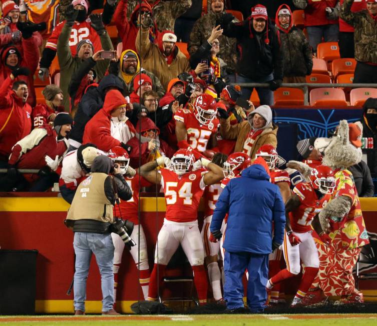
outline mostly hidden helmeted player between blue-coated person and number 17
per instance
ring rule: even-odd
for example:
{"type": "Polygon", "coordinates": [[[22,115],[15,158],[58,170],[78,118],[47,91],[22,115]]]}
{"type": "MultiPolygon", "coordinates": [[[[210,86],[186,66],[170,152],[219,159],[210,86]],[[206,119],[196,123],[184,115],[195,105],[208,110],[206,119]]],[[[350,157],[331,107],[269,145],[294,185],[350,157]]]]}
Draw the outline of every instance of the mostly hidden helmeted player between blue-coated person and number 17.
{"type": "MultiPolygon", "coordinates": [[[[274,146],[265,144],[261,146],[256,152],[256,157],[261,156],[266,161],[268,168],[270,169],[271,182],[277,184],[280,189],[283,201],[286,202],[291,195],[290,192],[290,177],[287,171],[276,168],[278,160],[277,151],[274,146]]],[[[276,249],[272,251],[268,256],[268,274],[272,277],[280,270],[280,260],[282,257],[282,251],[276,249]]],[[[280,293],[280,283],[276,284],[270,291],[270,304],[277,304],[280,300],[283,302],[284,293],[280,293]],[[280,293],[280,294],[279,294],[280,293]]]]}

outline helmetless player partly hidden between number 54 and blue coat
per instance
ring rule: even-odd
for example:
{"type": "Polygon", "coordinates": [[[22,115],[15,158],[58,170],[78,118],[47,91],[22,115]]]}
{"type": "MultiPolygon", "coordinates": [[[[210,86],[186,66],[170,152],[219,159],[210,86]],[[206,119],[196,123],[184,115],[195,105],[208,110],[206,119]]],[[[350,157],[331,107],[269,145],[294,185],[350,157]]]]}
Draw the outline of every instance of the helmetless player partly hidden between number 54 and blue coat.
{"type": "MultiPolygon", "coordinates": [[[[227,156],[222,153],[215,153],[212,163],[223,166],[227,156]]],[[[204,190],[204,219],[202,227],[202,237],[204,244],[205,263],[208,269],[208,278],[211,283],[213,297],[216,301],[222,300],[221,293],[221,272],[217,257],[220,251],[220,242],[211,242],[209,225],[211,225],[213,210],[215,209],[217,198],[222,191],[221,182],[211,184],[204,190]]]]}

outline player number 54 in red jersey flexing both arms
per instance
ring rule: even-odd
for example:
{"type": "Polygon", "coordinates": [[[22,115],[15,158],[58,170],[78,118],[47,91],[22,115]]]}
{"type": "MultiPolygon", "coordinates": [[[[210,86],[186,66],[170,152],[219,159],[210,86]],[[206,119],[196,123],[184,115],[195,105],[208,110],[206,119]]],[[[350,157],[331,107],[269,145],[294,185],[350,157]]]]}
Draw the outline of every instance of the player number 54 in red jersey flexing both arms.
{"type": "Polygon", "coordinates": [[[140,174],[148,181],[161,184],[166,200],[166,215],[157,238],[155,263],[149,283],[148,299],[157,299],[157,282],[161,282],[166,265],[181,244],[192,266],[199,303],[207,301],[207,275],[204,269],[203,241],[198,227],[199,200],[206,185],[223,178],[222,168],[201,158],[205,168],[193,170],[194,154],[179,149],[170,159],[164,156],[140,167],[140,174]],[[154,170],[165,164],[167,167],[154,170]],[[157,278],[159,275],[159,279],[157,278]]]}

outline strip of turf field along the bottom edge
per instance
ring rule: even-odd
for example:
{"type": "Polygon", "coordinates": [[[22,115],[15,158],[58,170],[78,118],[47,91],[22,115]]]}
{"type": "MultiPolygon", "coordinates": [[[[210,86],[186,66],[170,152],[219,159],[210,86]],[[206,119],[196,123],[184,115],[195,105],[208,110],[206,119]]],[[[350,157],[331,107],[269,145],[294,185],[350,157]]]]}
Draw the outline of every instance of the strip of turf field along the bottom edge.
{"type": "Polygon", "coordinates": [[[39,315],[39,316],[0,316],[4,325],[93,325],[93,326],[263,326],[284,325],[375,325],[377,314],[219,314],[219,315],[39,315]]]}

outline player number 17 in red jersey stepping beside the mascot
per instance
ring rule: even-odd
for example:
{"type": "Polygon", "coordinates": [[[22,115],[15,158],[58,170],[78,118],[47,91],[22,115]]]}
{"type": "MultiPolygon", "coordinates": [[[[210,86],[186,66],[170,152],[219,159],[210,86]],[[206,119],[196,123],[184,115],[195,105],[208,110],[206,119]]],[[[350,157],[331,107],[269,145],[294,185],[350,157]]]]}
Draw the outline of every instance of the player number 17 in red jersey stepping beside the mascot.
{"type": "Polygon", "coordinates": [[[311,235],[311,224],[324,243],[330,241],[328,235],[322,231],[318,218],[313,218],[330,200],[334,188],[335,176],[332,169],[318,165],[311,170],[310,182],[298,183],[293,188],[294,194],[285,203],[287,222],[282,249],[287,267],[270,278],[266,287],[269,290],[274,284],[297,275],[300,272],[301,259],[305,272],[291,306],[302,304],[302,299],[319,269],[318,251],[311,235]]]}

